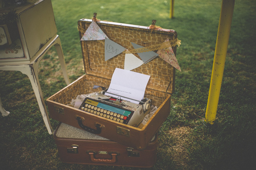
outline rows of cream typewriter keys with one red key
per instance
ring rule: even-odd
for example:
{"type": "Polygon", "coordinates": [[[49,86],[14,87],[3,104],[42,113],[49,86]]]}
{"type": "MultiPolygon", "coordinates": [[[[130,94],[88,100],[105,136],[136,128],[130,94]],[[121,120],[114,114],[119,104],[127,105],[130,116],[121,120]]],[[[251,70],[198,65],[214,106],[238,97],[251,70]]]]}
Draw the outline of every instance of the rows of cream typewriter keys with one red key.
{"type": "Polygon", "coordinates": [[[83,107],[81,107],[81,110],[96,114],[98,116],[105,117],[110,120],[117,121],[120,123],[124,123],[124,121],[126,121],[128,118],[127,116],[124,116],[124,115],[121,115],[121,114],[118,114],[115,112],[111,112],[107,109],[102,109],[100,107],[96,107],[96,106],[89,105],[89,104],[85,104],[83,107]]]}

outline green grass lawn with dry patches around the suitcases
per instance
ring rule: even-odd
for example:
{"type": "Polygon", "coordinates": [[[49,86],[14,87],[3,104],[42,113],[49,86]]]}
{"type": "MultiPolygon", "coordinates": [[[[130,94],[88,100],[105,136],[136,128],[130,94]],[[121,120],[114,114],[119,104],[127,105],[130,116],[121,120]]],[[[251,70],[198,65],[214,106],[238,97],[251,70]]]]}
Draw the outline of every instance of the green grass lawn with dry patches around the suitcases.
{"type": "MultiPolygon", "coordinates": [[[[174,29],[181,40],[171,114],[159,131],[157,161],[151,169],[255,169],[256,3],[236,0],[216,122],[204,122],[221,0],[52,0],[71,82],[83,75],[77,21],[97,18],[174,29]]],[[[40,63],[45,100],[66,86],[55,49],[40,63]]],[[[9,116],[0,116],[2,169],[140,169],[66,164],[59,161],[28,78],[0,72],[0,94],[9,116]]],[[[58,122],[51,119],[53,128],[58,122]]]]}

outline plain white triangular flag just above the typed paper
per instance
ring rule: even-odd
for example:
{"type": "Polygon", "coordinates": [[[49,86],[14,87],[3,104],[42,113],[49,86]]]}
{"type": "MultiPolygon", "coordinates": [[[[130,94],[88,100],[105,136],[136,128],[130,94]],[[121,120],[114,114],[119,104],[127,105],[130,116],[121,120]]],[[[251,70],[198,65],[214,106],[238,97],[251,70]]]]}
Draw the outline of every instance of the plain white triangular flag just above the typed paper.
{"type": "Polygon", "coordinates": [[[143,64],[143,61],[137,58],[133,54],[126,54],[124,58],[124,70],[133,70],[137,67],[140,67],[143,64]]]}

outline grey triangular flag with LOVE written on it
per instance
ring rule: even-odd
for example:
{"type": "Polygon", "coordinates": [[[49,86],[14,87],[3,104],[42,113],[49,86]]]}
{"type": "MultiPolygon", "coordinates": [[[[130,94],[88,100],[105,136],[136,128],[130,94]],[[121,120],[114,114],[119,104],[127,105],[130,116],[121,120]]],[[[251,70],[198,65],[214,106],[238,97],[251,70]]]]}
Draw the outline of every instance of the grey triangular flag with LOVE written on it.
{"type": "Polygon", "coordinates": [[[105,61],[120,54],[124,50],[126,50],[126,48],[122,47],[121,45],[117,44],[116,42],[111,41],[108,38],[105,39],[105,61]]]}

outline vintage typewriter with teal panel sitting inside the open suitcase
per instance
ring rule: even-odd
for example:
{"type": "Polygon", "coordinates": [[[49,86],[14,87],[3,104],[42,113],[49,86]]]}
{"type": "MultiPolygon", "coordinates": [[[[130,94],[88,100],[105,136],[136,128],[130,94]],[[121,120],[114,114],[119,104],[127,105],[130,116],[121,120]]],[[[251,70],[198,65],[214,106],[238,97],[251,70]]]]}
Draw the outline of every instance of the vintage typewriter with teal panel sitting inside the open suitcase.
{"type": "Polygon", "coordinates": [[[79,109],[106,119],[136,127],[150,111],[151,100],[143,98],[139,104],[104,95],[106,90],[89,94],[79,109]]]}

